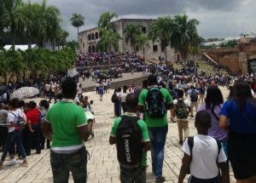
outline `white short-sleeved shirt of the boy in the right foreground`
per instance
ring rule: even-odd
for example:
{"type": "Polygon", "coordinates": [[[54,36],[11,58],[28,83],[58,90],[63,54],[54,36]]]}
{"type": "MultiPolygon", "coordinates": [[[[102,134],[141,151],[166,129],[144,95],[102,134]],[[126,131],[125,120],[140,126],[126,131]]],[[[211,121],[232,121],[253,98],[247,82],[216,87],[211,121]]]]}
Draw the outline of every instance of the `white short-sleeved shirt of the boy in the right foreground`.
{"type": "MultiPolygon", "coordinates": [[[[188,139],[185,140],[182,150],[190,156],[188,139]]],[[[217,157],[218,163],[227,160],[223,148],[218,154],[217,141],[208,135],[195,135],[190,174],[198,179],[212,179],[218,176],[217,157]]]]}

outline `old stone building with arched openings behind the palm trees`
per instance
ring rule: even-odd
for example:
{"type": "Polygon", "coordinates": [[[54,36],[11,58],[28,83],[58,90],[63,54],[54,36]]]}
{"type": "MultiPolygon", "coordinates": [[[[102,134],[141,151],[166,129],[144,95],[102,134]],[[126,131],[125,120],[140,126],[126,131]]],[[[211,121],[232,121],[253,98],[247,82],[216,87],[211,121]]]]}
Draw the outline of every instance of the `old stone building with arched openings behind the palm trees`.
{"type": "MultiPolygon", "coordinates": [[[[121,37],[119,40],[119,53],[132,53],[134,51],[130,43],[125,43],[125,35],[123,32],[125,26],[127,26],[129,23],[138,23],[142,25],[143,33],[148,33],[148,28],[153,22],[153,19],[120,19],[113,21],[114,31],[119,33],[119,36],[121,37]]],[[[96,43],[100,40],[100,38],[101,36],[97,27],[79,32],[80,52],[84,54],[96,52],[96,43]]],[[[156,40],[154,43],[151,40],[148,40],[148,43],[144,48],[144,54],[145,60],[155,60],[158,59],[159,56],[165,57],[164,49],[160,46],[160,40],[156,40]]],[[[143,57],[143,49],[137,48],[137,55],[143,57]]],[[[174,49],[168,47],[168,61],[175,60],[175,56],[177,55],[175,55],[174,49]]]]}

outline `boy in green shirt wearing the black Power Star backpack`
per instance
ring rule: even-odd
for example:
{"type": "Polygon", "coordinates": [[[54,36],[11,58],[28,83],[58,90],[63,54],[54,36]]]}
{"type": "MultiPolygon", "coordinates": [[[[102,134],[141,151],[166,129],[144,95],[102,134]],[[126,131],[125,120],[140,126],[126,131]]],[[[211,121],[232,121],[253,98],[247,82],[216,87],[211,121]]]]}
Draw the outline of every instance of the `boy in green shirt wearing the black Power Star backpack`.
{"type": "Polygon", "coordinates": [[[114,120],[109,144],[116,144],[122,183],[146,183],[147,154],[150,150],[147,124],[137,117],[138,98],[127,94],[127,112],[114,120]]]}

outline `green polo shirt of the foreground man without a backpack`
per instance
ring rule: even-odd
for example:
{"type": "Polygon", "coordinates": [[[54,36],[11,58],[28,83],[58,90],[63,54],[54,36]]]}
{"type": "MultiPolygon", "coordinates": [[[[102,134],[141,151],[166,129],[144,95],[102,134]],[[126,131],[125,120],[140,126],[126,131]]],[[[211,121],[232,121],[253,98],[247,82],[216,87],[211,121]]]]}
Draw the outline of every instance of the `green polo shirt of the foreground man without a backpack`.
{"type": "Polygon", "coordinates": [[[59,101],[49,109],[45,119],[52,126],[52,149],[72,151],[84,146],[77,129],[87,124],[82,107],[73,101],[59,101]]]}

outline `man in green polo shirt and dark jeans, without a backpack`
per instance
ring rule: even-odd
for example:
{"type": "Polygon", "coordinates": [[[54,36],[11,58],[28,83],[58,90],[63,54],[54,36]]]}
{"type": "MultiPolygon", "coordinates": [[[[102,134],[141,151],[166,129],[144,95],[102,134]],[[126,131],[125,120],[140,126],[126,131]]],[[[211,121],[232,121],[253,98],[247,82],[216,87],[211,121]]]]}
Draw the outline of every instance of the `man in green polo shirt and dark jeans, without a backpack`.
{"type": "Polygon", "coordinates": [[[82,107],[73,99],[77,94],[77,83],[67,78],[61,83],[64,99],[52,106],[42,123],[43,133],[52,140],[50,163],[55,183],[68,181],[69,172],[74,182],[86,182],[87,152],[84,146],[90,135],[90,124],[82,107]]]}

